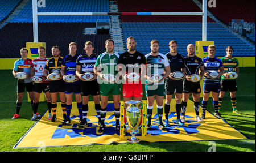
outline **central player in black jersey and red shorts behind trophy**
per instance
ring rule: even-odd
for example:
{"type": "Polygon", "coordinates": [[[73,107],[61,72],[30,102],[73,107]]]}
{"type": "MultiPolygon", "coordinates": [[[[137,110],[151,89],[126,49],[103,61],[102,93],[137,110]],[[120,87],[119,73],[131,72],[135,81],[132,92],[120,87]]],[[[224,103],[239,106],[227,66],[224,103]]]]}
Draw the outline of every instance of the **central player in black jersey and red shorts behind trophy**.
{"type": "MultiPolygon", "coordinates": [[[[122,76],[125,74],[130,74],[135,72],[140,76],[143,76],[143,67],[146,64],[145,55],[136,50],[136,41],[134,37],[128,37],[126,40],[126,45],[128,51],[121,54],[118,60],[119,73],[122,76]]],[[[123,102],[129,100],[142,101],[143,88],[141,83],[141,78],[139,81],[127,81],[123,79],[123,102]]],[[[139,105],[140,106],[140,105],[139,105]]],[[[127,107],[127,106],[126,106],[127,107]]],[[[126,123],[126,117],[125,123],[126,123]]],[[[142,119],[141,119],[142,122],[142,119]]]]}

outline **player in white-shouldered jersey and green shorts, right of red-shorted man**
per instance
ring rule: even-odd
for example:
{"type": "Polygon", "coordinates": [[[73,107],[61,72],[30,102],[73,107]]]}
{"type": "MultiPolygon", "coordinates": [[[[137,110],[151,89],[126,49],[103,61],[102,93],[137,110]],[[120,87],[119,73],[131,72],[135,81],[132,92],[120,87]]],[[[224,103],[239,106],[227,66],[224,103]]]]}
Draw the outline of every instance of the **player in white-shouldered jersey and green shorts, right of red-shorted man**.
{"type": "Polygon", "coordinates": [[[159,41],[152,40],[150,42],[151,52],[146,55],[146,84],[145,91],[147,97],[147,130],[151,130],[151,117],[153,112],[154,101],[156,100],[157,113],[158,113],[158,128],[160,130],[166,130],[163,125],[163,97],[164,97],[164,79],[170,74],[170,65],[166,55],[159,53],[159,41]],[[165,73],[164,73],[165,71],[165,73]],[[158,82],[151,80],[151,75],[160,74],[163,79],[158,82]]]}

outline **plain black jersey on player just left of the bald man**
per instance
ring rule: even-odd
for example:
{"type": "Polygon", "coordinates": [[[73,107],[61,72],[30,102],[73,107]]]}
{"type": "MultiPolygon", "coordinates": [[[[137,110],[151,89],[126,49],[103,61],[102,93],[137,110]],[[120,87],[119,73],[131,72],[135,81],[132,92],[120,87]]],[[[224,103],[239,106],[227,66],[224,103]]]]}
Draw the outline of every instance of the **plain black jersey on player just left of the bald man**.
{"type": "Polygon", "coordinates": [[[181,68],[185,68],[184,58],[179,53],[177,53],[176,56],[172,56],[169,52],[166,54],[166,57],[168,58],[168,62],[170,64],[171,73],[181,71],[181,68]]]}

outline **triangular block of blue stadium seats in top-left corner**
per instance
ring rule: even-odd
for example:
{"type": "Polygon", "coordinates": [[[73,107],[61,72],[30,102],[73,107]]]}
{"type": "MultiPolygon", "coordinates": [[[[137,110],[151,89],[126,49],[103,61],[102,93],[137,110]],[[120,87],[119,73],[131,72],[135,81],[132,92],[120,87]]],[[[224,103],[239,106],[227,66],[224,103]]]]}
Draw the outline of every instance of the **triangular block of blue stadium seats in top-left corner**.
{"type": "Polygon", "coordinates": [[[18,0],[10,0],[0,1],[1,11],[0,11],[0,22],[6,18],[8,14],[19,4],[20,1],[18,0]]]}

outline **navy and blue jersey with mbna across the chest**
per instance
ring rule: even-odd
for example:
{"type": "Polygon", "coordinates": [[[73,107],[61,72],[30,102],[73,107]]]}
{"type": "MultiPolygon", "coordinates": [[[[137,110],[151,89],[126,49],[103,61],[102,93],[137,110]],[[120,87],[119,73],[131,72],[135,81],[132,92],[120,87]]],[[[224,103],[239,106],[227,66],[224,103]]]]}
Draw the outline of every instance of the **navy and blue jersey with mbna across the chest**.
{"type": "MultiPolygon", "coordinates": [[[[214,58],[205,57],[203,59],[203,63],[204,63],[204,71],[205,72],[209,72],[209,71],[217,71],[218,72],[218,68],[223,66],[221,59],[218,59],[217,57],[214,57],[214,58]]],[[[218,78],[211,79],[211,78],[204,77],[204,83],[205,84],[220,83],[220,80],[218,78]]]]}

